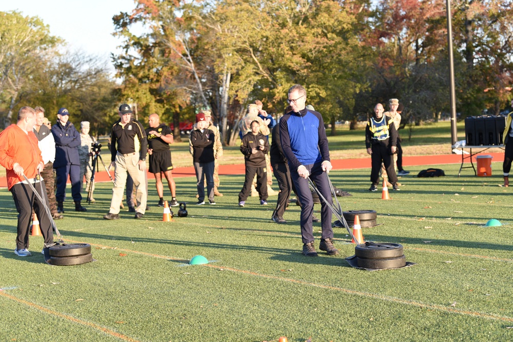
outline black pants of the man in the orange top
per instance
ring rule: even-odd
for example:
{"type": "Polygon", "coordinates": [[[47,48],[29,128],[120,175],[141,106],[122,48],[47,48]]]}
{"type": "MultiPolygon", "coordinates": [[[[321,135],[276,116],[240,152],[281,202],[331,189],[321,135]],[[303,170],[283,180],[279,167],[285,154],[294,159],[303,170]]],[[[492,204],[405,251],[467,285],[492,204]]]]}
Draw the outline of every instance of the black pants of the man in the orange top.
{"type": "MultiPolygon", "coordinates": [[[[33,184],[37,193],[45,200],[46,206],[49,208],[48,198],[46,195],[46,187],[44,182],[37,182],[33,184]],[[43,184],[43,191],[41,191],[41,184],[43,184]]],[[[50,222],[50,217],[46,213],[43,203],[35,196],[34,192],[28,184],[18,183],[11,188],[12,197],[16,202],[16,207],[19,208],[18,217],[18,235],[16,236],[16,249],[24,249],[29,247],[29,231],[30,221],[32,219],[32,207],[35,214],[39,219],[41,233],[45,239],[45,244],[53,243],[53,230],[50,222]]]]}

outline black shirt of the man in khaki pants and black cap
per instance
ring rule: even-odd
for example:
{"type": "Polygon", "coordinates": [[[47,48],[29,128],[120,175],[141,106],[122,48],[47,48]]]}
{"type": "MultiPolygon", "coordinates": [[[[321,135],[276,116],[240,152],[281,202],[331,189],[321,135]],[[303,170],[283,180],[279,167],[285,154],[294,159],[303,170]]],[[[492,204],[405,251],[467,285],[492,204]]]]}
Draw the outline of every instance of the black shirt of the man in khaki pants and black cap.
{"type": "Polygon", "coordinates": [[[148,141],[143,125],[134,119],[125,126],[121,125],[121,119],[117,120],[110,130],[111,160],[116,160],[116,153],[139,153],[139,159],[145,160],[148,152],[148,141]]]}

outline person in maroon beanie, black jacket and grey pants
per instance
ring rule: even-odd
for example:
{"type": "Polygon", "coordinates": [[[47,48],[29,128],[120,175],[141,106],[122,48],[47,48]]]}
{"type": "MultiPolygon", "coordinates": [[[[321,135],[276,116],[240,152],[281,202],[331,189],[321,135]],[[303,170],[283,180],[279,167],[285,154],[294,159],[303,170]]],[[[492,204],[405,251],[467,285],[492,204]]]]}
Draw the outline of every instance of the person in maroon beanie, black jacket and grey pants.
{"type": "Polygon", "coordinates": [[[214,142],[215,134],[208,129],[209,123],[205,119],[205,114],[196,114],[196,129],[191,132],[190,144],[192,145],[192,161],[194,171],[196,171],[196,187],[198,188],[198,203],[205,204],[205,187],[203,185],[205,177],[207,178],[207,197],[210,204],[214,201],[214,142]]]}

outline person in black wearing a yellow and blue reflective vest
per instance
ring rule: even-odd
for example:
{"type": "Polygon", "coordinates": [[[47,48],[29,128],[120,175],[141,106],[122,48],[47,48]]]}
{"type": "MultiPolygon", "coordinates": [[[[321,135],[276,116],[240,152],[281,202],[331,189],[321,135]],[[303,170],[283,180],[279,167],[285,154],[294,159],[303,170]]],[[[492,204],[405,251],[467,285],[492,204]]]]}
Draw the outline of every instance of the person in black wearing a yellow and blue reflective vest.
{"type": "Polygon", "coordinates": [[[374,107],[374,115],[369,119],[365,129],[365,146],[367,153],[371,156],[372,170],[370,182],[372,185],[369,191],[378,190],[380,180],[381,163],[385,165],[388,180],[393,190],[399,190],[397,185],[397,174],[393,168],[392,155],[396,153],[397,130],[390,117],[383,115],[383,105],[377,104],[374,107]]]}

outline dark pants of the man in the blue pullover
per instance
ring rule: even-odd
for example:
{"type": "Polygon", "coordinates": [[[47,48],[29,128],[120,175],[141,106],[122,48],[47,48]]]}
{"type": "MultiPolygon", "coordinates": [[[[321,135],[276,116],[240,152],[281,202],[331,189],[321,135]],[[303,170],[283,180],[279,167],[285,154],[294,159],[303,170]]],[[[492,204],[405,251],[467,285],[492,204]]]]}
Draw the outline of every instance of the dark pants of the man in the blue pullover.
{"type": "MultiPolygon", "coordinates": [[[[331,198],[328,178],[321,168],[321,163],[305,165],[305,167],[308,172],[310,172],[310,179],[315,183],[317,189],[319,189],[326,200],[328,200],[328,203],[332,205],[333,199],[331,198]]],[[[308,244],[313,242],[312,192],[308,186],[308,179],[300,177],[297,170],[290,170],[290,177],[292,178],[292,182],[294,182],[296,195],[298,195],[299,202],[301,203],[301,238],[303,244],[308,244]]],[[[321,200],[322,239],[333,238],[333,229],[331,228],[332,214],[326,203],[321,200]]]]}

